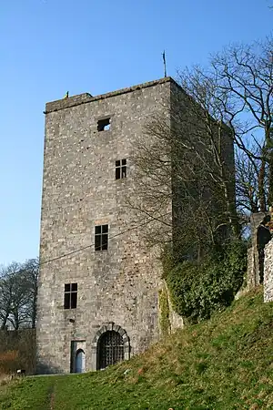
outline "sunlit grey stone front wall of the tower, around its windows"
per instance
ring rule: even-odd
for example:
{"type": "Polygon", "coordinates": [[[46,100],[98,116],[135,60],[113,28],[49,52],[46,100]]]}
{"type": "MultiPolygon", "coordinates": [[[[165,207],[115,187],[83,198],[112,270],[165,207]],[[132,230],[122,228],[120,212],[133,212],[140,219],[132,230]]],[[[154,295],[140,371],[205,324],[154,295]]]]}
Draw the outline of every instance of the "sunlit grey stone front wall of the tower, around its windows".
{"type": "Polygon", "coordinates": [[[37,373],[73,371],[75,346],[85,346],[86,370],[96,370],[103,332],[121,335],[125,358],[158,339],[161,266],[140,230],[131,230],[125,197],[137,196],[134,141],[149,118],[169,111],[171,83],[167,77],[46,104],[37,373]],[[98,131],[107,116],[110,129],[98,131]],[[119,159],[127,161],[127,178],[116,180],[119,159]],[[108,250],[95,251],[95,226],[104,224],[108,250]],[[76,309],[64,309],[65,283],[75,282],[76,309]]]}

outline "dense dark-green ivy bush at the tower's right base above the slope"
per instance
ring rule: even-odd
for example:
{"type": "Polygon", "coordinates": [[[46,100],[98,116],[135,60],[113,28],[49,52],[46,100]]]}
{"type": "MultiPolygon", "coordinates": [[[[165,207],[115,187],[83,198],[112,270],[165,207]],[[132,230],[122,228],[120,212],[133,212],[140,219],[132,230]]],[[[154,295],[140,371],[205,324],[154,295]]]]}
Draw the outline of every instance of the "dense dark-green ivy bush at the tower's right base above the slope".
{"type": "Polygon", "coordinates": [[[165,274],[174,309],[190,323],[225,309],[241,287],[247,270],[247,246],[235,241],[198,265],[183,261],[165,274]]]}

